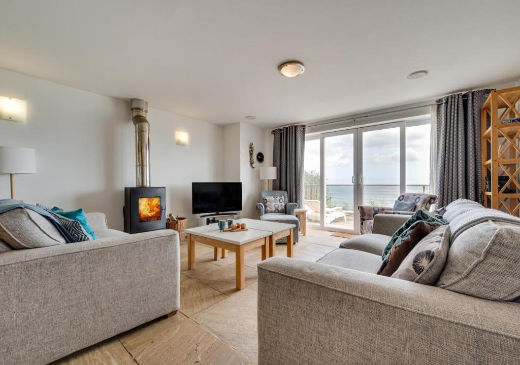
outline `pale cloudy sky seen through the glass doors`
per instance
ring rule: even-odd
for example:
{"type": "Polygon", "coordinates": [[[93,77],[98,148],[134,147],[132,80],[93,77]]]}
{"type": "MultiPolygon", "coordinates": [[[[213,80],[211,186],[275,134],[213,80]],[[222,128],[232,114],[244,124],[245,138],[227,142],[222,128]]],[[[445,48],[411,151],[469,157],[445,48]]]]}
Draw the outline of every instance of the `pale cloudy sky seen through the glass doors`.
{"type": "MultiPolygon", "coordinates": [[[[365,184],[399,184],[399,127],[362,134],[365,184]]],[[[328,184],[352,184],[353,134],[324,138],[328,184]]],[[[319,140],[305,143],[305,170],[320,171],[319,140]]],[[[430,125],[406,128],[406,184],[430,184],[430,125]]]]}

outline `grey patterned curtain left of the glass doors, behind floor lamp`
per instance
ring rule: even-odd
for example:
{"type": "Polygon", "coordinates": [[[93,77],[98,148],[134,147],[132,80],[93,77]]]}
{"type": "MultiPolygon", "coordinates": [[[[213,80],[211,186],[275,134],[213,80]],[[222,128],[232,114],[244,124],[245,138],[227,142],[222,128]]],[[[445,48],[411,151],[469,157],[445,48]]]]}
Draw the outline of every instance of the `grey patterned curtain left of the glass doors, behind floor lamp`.
{"type": "Polygon", "coordinates": [[[272,131],[272,134],[272,160],[276,167],[276,180],[273,181],[272,187],[274,190],[286,191],[289,202],[303,207],[305,126],[278,128],[272,131]]]}

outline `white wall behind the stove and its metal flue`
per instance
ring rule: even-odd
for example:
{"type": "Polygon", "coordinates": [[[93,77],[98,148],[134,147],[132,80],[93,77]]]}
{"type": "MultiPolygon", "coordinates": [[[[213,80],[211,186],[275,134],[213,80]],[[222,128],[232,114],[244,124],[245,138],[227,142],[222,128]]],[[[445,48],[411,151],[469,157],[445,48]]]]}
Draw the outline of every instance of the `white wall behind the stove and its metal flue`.
{"type": "MultiPolygon", "coordinates": [[[[0,95],[27,100],[26,124],[0,120],[0,145],[36,150],[37,173],[15,176],[15,198],[66,210],[105,212],[122,229],[125,186],[135,186],[135,133],[129,103],[0,70],[0,95]]],[[[139,97],[136,95],[136,97],[139,97]]],[[[167,212],[189,217],[191,182],[223,179],[223,127],[153,108],[151,183],[166,186],[167,212]],[[175,144],[175,130],[189,146],[175,144]]],[[[9,197],[0,175],[0,198],[9,197]]]]}

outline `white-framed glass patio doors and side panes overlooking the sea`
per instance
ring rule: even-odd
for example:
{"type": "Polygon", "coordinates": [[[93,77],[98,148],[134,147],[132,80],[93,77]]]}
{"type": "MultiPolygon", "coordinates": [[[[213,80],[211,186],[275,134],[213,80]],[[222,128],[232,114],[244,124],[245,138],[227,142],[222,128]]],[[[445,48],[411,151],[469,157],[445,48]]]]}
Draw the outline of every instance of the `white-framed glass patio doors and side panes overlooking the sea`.
{"type": "Polygon", "coordinates": [[[307,137],[309,227],[359,233],[360,205],[393,207],[404,192],[430,191],[430,119],[307,137]]]}

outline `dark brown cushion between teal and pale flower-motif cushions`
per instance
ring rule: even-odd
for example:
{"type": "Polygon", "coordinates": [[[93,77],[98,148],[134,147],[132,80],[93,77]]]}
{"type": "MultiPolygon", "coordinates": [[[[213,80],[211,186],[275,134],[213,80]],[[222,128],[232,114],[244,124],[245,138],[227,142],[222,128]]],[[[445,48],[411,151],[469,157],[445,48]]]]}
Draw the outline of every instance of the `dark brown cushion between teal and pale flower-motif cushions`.
{"type": "Polygon", "coordinates": [[[397,238],[394,246],[383,260],[378,275],[392,276],[414,247],[441,225],[443,224],[439,222],[417,221],[413,223],[397,238]]]}

